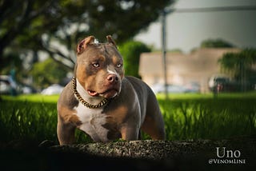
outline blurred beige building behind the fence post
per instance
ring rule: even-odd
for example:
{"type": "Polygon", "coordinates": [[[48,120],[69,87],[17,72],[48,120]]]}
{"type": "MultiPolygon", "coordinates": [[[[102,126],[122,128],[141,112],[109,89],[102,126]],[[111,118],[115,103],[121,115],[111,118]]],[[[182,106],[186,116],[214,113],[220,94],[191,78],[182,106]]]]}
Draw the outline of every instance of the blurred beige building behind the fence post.
{"type": "MultiPolygon", "coordinates": [[[[198,83],[200,91],[209,91],[208,82],[214,74],[220,74],[218,59],[226,53],[237,53],[234,48],[206,48],[190,54],[166,53],[167,83],[186,85],[198,83]]],[[[164,84],[164,69],[161,52],[143,53],[140,56],[139,74],[148,85],[164,84]]]]}

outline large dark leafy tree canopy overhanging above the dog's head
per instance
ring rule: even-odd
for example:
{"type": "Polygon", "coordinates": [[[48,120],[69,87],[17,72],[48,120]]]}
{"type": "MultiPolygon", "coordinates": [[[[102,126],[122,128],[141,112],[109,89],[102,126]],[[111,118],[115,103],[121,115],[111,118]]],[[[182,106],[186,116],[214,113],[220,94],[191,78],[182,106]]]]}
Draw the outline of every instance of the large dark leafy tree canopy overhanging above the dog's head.
{"type": "Polygon", "coordinates": [[[94,34],[118,43],[132,38],[173,1],[1,0],[0,59],[6,48],[43,50],[72,69],[78,40],[94,34]]]}

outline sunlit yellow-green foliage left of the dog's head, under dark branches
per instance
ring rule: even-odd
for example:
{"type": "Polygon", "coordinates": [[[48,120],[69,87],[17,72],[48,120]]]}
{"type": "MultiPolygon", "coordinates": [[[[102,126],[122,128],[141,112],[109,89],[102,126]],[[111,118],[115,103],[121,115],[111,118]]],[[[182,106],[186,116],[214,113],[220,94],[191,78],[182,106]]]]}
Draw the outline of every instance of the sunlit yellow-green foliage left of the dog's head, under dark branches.
{"type": "Polygon", "coordinates": [[[61,82],[61,79],[65,78],[66,74],[67,70],[51,58],[46,59],[44,62],[35,63],[31,70],[34,85],[39,88],[45,88],[51,84],[61,82]]]}

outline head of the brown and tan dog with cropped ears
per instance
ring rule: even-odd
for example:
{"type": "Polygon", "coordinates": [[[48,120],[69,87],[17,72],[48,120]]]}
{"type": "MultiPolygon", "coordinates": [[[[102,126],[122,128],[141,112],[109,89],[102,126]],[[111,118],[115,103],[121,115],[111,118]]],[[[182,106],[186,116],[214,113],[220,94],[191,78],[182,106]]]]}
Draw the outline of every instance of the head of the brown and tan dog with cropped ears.
{"type": "Polygon", "coordinates": [[[74,75],[91,97],[116,97],[124,77],[122,56],[111,36],[106,43],[84,38],[77,47],[74,75]]]}

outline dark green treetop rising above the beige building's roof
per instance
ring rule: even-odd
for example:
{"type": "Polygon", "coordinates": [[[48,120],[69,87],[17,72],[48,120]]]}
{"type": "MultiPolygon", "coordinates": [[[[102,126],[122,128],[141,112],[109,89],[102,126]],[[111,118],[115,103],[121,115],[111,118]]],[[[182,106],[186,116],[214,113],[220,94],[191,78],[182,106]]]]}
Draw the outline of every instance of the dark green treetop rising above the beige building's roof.
{"type": "Polygon", "coordinates": [[[234,47],[230,42],[226,42],[220,38],[218,39],[207,39],[201,43],[201,48],[220,48],[220,47],[234,47]]]}

